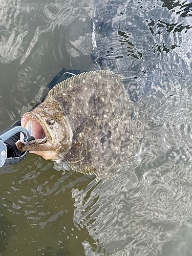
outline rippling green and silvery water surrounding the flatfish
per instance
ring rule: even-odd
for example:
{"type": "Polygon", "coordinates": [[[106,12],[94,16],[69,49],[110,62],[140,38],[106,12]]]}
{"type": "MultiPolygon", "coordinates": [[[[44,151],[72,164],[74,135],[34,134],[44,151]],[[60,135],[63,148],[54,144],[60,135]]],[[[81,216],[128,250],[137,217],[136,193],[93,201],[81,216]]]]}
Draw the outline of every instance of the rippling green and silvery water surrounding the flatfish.
{"type": "Polygon", "coordinates": [[[1,168],[1,255],[191,255],[190,2],[0,5],[0,130],[62,67],[102,68],[121,74],[138,139],[108,180],[32,154],[1,168]]]}

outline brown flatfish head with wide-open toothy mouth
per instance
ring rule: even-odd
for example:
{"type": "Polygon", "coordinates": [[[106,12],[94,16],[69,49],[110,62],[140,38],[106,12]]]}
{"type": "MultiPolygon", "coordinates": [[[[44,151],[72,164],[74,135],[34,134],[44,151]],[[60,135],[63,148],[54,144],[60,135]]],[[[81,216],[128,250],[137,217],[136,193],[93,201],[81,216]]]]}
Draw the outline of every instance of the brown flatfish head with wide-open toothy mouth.
{"type": "Polygon", "coordinates": [[[48,97],[31,112],[22,117],[22,126],[35,139],[16,142],[19,151],[29,151],[46,160],[58,160],[71,144],[72,131],[66,115],[57,101],[48,97]]]}

